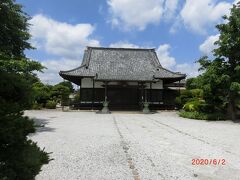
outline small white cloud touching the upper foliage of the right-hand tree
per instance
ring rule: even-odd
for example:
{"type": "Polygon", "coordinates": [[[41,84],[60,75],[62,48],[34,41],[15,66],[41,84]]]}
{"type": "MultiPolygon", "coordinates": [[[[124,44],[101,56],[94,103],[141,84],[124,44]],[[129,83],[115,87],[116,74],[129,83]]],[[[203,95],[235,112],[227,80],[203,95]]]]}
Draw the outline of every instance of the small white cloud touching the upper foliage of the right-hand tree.
{"type": "Polygon", "coordinates": [[[199,46],[199,50],[204,55],[211,55],[213,49],[217,47],[214,42],[216,42],[218,38],[219,34],[207,37],[207,39],[199,46]]]}

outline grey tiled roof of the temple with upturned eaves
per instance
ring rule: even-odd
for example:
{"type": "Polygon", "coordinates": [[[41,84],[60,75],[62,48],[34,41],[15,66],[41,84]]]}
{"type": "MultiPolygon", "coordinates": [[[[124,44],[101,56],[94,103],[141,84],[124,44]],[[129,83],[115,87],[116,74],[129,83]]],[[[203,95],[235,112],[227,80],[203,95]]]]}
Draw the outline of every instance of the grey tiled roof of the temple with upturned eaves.
{"type": "Polygon", "coordinates": [[[156,79],[185,78],[185,74],[164,69],[155,49],[88,47],[80,67],[60,71],[60,76],[71,78],[94,77],[105,81],[154,81],[156,79]]]}

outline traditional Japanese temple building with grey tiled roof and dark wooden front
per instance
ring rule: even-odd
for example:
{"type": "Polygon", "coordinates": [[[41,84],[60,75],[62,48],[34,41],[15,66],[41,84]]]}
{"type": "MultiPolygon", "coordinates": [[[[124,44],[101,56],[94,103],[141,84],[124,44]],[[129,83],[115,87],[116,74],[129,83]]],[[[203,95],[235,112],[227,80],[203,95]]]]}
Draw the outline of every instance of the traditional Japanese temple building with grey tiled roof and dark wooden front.
{"type": "Polygon", "coordinates": [[[60,71],[80,86],[80,109],[173,109],[186,75],[163,68],[155,49],[87,47],[80,67],[60,71]]]}

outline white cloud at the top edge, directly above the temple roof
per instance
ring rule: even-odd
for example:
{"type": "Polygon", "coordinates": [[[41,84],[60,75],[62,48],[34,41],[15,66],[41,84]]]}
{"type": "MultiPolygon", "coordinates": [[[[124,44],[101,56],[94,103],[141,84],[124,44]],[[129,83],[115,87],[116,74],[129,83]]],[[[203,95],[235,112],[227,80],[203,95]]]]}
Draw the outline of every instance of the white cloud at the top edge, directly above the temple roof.
{"type": "Polygon", "coordinates": [[[111,23],[123,30],[144,30],[162,18],[173,18],[178,0],[107,0],[111,23]]]}

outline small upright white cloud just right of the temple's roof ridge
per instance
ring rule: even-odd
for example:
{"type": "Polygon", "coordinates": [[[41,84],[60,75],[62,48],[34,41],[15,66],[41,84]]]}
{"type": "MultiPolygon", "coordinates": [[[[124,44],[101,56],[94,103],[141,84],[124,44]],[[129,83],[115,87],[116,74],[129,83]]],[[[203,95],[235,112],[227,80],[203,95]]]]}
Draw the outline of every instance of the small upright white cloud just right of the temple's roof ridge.
{"type": "Polygon", "coordinates": [[[175,58],[170,56],[169,53],[170,48],[171,47],[169,44],[163,44],[160,45],[156,51],[158,59],[164,68],[172,68],[173,66],[176,65],[175,58]]]}

